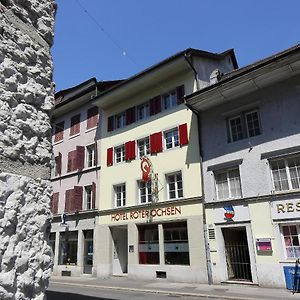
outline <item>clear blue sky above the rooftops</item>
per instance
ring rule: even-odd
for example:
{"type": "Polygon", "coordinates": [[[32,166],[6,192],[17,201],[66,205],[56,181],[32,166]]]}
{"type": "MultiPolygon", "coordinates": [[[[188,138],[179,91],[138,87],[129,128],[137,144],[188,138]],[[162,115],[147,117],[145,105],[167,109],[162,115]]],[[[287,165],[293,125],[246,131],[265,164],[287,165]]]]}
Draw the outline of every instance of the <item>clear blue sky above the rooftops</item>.
{"type": "Polygon", "coordinates": [[[128,78],[190,47],[234,48],[243,67],[300,43],[298,0],[56,2],[56,91],[91,77],[128,78]]]}

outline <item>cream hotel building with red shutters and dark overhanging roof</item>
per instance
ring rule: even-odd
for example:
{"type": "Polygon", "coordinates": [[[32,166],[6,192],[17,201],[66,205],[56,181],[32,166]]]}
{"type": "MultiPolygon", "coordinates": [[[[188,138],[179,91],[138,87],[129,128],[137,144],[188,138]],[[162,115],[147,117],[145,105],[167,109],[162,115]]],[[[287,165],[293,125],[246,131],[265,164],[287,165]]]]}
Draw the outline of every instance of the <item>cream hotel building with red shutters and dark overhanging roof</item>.
{"type": "Polygon", "coordinates": [[[232,50],[187,49],[93,100],[102,111],[97,276],[207,282],[198,124],[183,98],[216,68],[236,67],[232,50]]]}

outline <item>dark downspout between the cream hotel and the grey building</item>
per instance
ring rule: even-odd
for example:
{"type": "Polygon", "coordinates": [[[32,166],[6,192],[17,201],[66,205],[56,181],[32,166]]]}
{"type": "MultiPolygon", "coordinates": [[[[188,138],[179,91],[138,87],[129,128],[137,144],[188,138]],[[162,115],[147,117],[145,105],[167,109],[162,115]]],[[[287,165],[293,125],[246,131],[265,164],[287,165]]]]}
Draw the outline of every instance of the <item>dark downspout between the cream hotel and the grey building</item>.
{"type": "Polygon", "coordinates": [[[206,223],[206,214],[205,214],[205,194],[204,194],[204,182],[203,182],[203,153],[202,153],[202,139],[201,139],[201,121],[200,121],[200,113],[191,107],[188,103],[186,103],[186,99],[184,98],[184,104],[197,116],[197,125],[198,125],[198,145],[199,145],[199,154],[200,154],[200,169],[201,169],[201,191],[202,191],[202,209],[203,209],[203,229],[204,229],[204,246],[205,246],[205,255],[206,255],[206,269],[207,269],[207,281],[208,284],[213,284],[212,278],[212,269],[211,269],[211,257],[209,250],[209,242],[208,242],[208,229],[206,223]]]}

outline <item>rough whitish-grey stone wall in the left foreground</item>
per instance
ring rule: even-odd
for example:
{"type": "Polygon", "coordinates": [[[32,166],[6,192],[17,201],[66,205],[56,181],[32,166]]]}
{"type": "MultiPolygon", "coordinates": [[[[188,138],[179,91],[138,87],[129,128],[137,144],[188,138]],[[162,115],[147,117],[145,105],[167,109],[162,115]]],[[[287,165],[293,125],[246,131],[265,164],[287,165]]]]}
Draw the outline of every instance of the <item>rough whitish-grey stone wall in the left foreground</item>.
{"type": "Polygon", "coordinates": [[[0,0],[0,299],[45,299],[54,0],[0,0]]]}

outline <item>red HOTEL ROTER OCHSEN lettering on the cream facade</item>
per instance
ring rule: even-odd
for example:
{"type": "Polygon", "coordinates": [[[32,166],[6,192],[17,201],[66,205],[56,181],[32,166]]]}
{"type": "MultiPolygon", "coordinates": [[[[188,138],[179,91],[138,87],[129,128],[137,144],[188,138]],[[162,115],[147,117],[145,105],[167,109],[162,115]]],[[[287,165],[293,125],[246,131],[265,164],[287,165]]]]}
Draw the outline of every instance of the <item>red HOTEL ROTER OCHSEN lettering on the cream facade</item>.
{"type": "Polygon", "coordinates": [[[153,208],[145,210],[134,210],[128,212],[115,213],[111,215],[111,221],[127,221],[127,220],[137,220],[137,219],[147,219],[155,217],[166,217],[181,215],[181,206],[170,206],[163,208],[153,208]]]}

